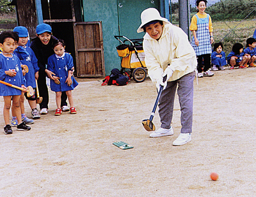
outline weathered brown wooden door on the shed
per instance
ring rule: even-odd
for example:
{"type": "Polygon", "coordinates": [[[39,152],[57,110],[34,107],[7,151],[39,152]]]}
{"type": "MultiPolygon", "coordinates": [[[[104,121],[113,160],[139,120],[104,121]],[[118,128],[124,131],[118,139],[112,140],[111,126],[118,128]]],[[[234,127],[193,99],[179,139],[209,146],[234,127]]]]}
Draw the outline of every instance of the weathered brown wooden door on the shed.
{"type": "Polygon", "coordinates": [[[77,77],[105,77],[101,22],[74,22],[77,77]]]}

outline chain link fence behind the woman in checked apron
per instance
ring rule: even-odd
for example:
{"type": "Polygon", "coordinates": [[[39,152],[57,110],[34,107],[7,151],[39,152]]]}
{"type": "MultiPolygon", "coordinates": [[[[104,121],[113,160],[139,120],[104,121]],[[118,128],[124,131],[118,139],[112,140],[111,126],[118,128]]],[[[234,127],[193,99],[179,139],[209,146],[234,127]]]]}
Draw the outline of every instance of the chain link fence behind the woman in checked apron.
{"type": "MultiPolygon", "coordinates": [[[[197,13],[196,1],[189,1],[190,18],[197,13]]],[[[179,26],[179,3],[170,1],[170,21],[179,26]]],[[[209,0],[206,13],[212,18],[214,43],[221,41],[223,51],[231,52],[234,43],[246,45],[253,37],[256,23],[256,2],[253,0],[209,0]]],[[[192,38],[192,33],[190,34],[192,38]]]]}

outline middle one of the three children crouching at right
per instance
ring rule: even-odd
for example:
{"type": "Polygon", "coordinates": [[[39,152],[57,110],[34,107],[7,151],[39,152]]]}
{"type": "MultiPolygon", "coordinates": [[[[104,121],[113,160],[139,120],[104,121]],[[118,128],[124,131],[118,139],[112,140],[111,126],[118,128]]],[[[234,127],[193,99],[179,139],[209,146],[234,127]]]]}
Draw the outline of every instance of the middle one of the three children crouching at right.
{"type": "Polygon", "coordinates": [[[230,69],[234,69],[234,66],[246,68],[248,61],[248,56],[244,55],[243,52],[243,45],[241,43],[235,43],[232,47],[232,52],[227,56],[227,62],[230,64],[230,69]]]}

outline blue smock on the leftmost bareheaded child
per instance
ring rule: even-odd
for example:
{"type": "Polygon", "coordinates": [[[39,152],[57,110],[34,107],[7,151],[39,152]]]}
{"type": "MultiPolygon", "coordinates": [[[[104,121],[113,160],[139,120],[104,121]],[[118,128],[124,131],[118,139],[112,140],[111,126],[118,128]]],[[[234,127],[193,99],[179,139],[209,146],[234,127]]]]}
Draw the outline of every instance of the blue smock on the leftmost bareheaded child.
{"type": "MultiPolygon", "coordinates": [[[[0,80],[19,87],[24,85],[20,59],[16,55],[13,55],[13,57],[4,57],[2,53],[0,54],[0,80]],[[17,72],[15,77],[10,77],[4,73],[4,71],[8,71],[9,69],[15,69],[17,72]]],[[[19,89],[0,84],[1,96],[15,96],[20,94],[21,91],[19,89]]]]}

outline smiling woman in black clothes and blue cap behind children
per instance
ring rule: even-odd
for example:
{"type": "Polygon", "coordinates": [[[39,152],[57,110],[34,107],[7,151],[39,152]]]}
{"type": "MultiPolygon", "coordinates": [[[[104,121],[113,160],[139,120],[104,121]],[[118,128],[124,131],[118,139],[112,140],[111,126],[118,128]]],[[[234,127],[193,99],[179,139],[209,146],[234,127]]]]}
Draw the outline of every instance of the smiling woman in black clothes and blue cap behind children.
{"type": "MultiPolygon", "coordinates": [[[[52,27],[48,24],[40,24],[36,26],[36,38],[31,43],[31,48],[34,51],[36,58],[38,59],[38,67],[39,67],[39,77],[38,77],[38,90],[40,96],[42,96],[43,101],[40,103],[40,113],[47,114],[48,113],[48,103],[49,103],[49,93],[48,87],[46,84],[46,75],[52,78],[52,73],[47,69],[47,61],[48,57],[54,54],[52,49],[52,42],[57,40],[54,36],[52,36],[52,27]]],[[[61,108],[63,112],[69,111],[67,106],[67,94],[66,92],[62,92],[61,94],[61,108]]]]}

